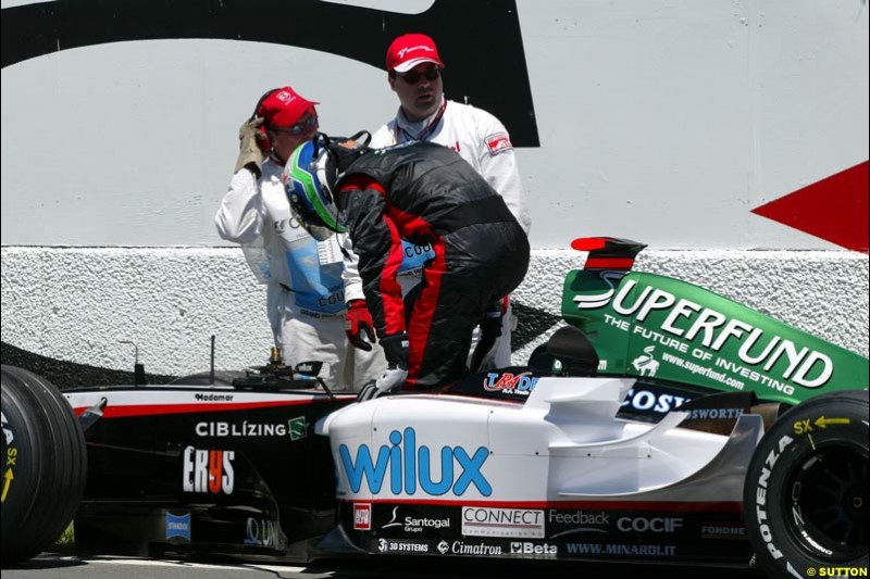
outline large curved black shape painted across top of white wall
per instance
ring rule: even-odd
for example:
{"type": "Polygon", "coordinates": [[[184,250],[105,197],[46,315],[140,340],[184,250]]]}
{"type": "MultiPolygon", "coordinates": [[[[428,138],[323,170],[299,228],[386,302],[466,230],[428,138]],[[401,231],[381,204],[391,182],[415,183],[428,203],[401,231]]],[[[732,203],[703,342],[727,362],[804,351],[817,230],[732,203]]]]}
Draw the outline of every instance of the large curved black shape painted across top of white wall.
{"type": "Polygon", "coordinates": [[[2,10],[2,65],[110,42],[212,38],[319,50],[385,70],[389,42],[409,32],[437,42],[448,97],[468,96],[495,114],[514,147],[540,146],[515,0],[437,0],[420,14],[319,0],[58,0],[2,10]]]}

